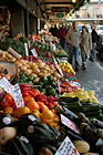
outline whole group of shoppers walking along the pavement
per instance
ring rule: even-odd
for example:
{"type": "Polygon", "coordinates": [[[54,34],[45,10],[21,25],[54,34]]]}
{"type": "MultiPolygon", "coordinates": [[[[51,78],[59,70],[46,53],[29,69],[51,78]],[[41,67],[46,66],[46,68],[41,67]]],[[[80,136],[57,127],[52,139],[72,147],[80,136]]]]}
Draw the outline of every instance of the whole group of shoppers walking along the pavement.
{"type": "Polygon", "coordinates": [[[92,32],[90,33],[85,25],[82,27],[82,32],[78,30],[78,23],[73,22],[72,27],[68,28],[63,24],[59,30],[56,25],[51,25],[50,32],[52,35],[60,39],[60,44],[64,49],[65,44],[69,45],[69,62],[73,63],[75,71],[80,70],[79,55],[82,59],[82,69],[86,69],[86,60],[96,61],[96,43],[99,35],[95,31],[95,27],[91,25],[92,32]],[[90,58],[89,58],[90,55],[90,58]]]}

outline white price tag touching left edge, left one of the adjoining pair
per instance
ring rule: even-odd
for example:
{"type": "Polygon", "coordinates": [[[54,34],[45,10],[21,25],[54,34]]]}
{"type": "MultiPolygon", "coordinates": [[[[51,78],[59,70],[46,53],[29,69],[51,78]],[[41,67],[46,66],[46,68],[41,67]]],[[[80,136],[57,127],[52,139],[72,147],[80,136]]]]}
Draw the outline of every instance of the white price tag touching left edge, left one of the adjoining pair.
{"type": "Polygon", "coordinates": [[[1,86],[7,93],[13,94],[13,85],[12,85],[6,78],[2,78],[2,79],[0,80],[0,86],[1,86]]]}

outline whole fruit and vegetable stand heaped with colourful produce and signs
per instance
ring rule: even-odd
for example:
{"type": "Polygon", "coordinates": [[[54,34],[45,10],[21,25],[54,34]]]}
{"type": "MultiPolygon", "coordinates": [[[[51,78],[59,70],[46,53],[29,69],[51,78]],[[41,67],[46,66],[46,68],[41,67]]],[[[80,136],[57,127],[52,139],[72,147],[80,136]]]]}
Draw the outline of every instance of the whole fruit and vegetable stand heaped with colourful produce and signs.
{"type": "Polygon", "coordinates": [[[53,37],[0,42],[1,154],[103,154],[103,105],[69,62],[54,59],[66,56],[54,42],[53,37]]]}

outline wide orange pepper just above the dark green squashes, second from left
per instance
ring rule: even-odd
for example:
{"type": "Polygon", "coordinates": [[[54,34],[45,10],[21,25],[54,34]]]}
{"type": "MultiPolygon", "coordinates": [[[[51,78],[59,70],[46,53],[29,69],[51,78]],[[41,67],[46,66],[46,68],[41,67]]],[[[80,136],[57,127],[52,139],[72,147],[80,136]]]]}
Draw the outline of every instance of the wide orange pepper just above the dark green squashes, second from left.
{"type": "Polygon", "coordinates": [[[30,113],[30,108],[27,106],[21,106],[14,111],[13,116],[19,118],[21,115],[27,113],[30,113]]]}

